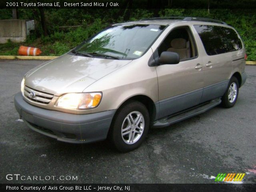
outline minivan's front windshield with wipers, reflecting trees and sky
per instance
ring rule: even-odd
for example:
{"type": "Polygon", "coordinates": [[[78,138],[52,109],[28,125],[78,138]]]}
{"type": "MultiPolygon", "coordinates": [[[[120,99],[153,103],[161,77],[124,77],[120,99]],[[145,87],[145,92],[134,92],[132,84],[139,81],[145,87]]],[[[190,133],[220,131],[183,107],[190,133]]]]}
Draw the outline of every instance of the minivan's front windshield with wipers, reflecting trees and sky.
{"type": "Polygon", "coordinates": [[[111,59],[136,59],[144,54],[165,26],[118,25],[103,30],[72,53],[111,59]]]}

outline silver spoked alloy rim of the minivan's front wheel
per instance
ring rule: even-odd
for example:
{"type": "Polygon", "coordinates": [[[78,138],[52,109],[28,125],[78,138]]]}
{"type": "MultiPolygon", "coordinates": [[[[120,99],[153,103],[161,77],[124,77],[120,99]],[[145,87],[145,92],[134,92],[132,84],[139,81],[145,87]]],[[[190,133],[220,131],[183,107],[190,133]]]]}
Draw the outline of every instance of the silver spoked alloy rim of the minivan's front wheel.
{"type": "Polygon", "coordinates": [[[145,126],[143,115],[138,111],[129,113],[122,124],[122,139],[127,144],[136,143],[142,136],[145,126]]]}

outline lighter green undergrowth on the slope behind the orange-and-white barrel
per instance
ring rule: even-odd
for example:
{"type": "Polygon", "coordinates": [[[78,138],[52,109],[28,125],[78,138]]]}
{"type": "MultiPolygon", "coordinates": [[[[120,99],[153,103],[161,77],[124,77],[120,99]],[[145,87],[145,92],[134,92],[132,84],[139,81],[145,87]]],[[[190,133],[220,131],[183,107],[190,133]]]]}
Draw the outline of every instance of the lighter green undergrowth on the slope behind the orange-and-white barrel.
{"type": "Polygon", "coordinates": [[[65,33],[57,31],[49,36],[40,38],[37,38],[36,34],[32,33],[25,42],[14,43],[8,40],[7,43],[0,44],[0,55],[18,55],[18,49],[23,45],[39,48],[42,51],[40,56],[60,56],[78,46],[88,37],[106,28],[106,26],[108,26],[108,23],[96,19],[90,25],[84,24],[84,26],[71,29],[65,33]]]}

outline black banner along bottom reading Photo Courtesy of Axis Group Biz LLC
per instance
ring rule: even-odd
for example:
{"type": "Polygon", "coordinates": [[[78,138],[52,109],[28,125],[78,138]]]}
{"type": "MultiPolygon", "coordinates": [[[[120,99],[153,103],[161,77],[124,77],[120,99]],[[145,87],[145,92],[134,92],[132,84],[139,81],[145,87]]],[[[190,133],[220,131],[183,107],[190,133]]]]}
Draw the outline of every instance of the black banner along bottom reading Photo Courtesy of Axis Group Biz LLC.
{"type": "Polygon", "coordinates": [[[1,192],[255,192],[256,184],[0,184],[1,192]]]}

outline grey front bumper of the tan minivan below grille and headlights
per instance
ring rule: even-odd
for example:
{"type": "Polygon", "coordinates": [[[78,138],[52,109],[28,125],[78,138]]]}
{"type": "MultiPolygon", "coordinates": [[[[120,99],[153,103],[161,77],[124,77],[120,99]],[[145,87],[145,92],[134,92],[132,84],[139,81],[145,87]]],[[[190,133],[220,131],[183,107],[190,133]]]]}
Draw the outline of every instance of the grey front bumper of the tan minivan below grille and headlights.
{"type": "Polygon", "coordinates": [[[21,92],[14,97],[15,108],[34,131],[69,143],[89,143],[106,139],[116,110],[94,114],[69,114],[28,104],[21,92]]]}

